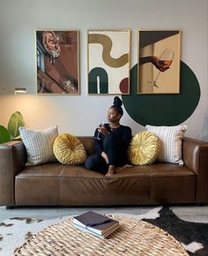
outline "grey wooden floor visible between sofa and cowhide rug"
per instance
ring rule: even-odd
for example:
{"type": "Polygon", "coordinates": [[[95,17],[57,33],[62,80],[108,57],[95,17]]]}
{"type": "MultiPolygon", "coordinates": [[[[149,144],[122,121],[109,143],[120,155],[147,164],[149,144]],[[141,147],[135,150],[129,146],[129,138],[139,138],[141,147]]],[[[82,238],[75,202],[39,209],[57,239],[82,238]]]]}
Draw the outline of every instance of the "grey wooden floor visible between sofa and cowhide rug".
{"type": "MultiPolygon", "coordinates": [[[[208,205],[169,206],[178,217],[184,221],[208,223],[208,205]]],[[[0,222],[13,217],[30,217],[39,219],[55,219],[68,215],[80,215],[88,210],[100,214],[144,215],[147,212],[159,210],[160,206],[147,207],[0,207],[0,222]]]]}

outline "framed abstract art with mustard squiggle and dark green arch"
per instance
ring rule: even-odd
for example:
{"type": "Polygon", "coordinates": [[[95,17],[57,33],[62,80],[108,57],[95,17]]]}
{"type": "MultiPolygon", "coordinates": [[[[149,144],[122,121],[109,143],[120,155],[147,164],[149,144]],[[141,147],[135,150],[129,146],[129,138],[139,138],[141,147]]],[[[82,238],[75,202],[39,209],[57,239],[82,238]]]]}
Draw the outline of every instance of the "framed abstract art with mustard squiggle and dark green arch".
{"type": "Polygon", "coordinates": [[[130,29],[88,30],[88,94],[130,94],[130,29]]]}

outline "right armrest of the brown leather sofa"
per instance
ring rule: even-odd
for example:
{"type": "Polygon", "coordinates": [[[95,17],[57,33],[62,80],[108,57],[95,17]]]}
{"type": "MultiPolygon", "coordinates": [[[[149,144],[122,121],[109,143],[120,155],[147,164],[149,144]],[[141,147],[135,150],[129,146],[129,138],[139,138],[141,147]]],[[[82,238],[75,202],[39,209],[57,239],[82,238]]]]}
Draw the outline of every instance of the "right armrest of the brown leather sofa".
{"type": "Polygon", "coordinates": [[[208,142],[184,138],[182,142],[183,162],[196,173],[196,202],[208,202],[208,142]]]}

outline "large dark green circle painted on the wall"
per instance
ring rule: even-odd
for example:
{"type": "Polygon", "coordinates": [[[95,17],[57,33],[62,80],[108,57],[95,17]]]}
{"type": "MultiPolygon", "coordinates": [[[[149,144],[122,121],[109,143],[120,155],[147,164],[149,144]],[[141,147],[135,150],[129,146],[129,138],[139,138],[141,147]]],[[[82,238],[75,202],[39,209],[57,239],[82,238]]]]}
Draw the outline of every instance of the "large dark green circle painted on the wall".
{"type": "Polygon", "coordinates": [[[130,95],[123,105],[130,117],[141,125],[177,125],[188,119],[200,99],[197,78],[181,61],[180,94],[137,94],[137,64],[130,71],[130,95]]]}

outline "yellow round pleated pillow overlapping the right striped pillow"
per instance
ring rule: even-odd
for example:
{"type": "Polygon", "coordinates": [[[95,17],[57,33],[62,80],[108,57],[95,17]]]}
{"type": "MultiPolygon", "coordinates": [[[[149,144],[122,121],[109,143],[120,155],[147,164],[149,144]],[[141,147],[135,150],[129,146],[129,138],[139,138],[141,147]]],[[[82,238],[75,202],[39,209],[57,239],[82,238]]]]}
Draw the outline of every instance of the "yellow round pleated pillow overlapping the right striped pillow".
{"type": "Polygon", "coordinates": [[[130,141],[128,157],[134,165],[154,162],[159,154],[160,141],[152,132],[137,132],[130,141]]]}

